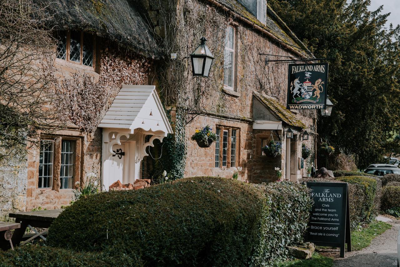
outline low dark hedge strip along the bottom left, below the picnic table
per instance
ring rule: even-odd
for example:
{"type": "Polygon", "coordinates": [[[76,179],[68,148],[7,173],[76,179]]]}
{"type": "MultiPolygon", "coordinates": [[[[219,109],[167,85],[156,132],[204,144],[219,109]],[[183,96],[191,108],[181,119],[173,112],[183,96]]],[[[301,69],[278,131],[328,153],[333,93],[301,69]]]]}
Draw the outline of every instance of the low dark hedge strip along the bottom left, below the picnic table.
{"type": "Polygon", "coordinates": [[[0,267],[84,267],[84,266],[143,266],[134,257],[105,253],[77,253],[67,249],[38,246],[16,247],[15,250],[0,251],[0,267]]]}

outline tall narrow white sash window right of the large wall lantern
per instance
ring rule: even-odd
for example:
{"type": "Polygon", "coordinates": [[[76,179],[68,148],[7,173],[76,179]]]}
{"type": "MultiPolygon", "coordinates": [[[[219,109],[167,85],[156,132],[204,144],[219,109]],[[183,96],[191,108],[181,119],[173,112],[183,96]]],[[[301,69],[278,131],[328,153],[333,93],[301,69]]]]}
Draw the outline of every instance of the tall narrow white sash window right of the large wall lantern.
{"type": "Polygon", "coordinates": [[[234,90],[235,28],[226,29],[224,49],[224,87],[234,90]]]}

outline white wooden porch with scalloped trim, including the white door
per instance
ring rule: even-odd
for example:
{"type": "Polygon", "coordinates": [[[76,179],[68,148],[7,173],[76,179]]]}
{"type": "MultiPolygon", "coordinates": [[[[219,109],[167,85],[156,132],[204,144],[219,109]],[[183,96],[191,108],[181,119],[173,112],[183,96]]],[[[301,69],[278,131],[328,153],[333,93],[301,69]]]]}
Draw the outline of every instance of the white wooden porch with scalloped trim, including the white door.
{"type": "Polygon", "coordinates": [[[146,147],[162,139],[172,127],[152,85],[123,85],[98,127],[103,128],[102,183],[106,190],[117,180],[140,179],[146,147]],[[146,136],[151,135],[146,142],[146,136]]]}

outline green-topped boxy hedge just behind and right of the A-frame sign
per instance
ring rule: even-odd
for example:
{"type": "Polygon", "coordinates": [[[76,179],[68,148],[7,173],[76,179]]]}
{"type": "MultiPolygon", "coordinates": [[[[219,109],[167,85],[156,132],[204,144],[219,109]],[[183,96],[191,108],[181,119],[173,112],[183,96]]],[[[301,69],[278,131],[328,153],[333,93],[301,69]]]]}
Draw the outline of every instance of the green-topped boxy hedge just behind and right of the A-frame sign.
{"type": "Polygon", "coordinates": [[[345,176],[336,178],[338,181],[356,185],[349,187],[350,220],[354,228],[358,224],[370,223],[376,215],[377,181],[373,177],[345,176]]]}

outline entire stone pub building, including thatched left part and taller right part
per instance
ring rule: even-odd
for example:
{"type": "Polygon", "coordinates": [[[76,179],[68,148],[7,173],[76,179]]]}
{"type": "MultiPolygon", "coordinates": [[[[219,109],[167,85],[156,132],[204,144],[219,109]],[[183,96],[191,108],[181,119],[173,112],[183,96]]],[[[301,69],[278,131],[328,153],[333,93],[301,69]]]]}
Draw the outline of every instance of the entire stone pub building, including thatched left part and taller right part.
{"type": "Polygon", "coordinates": [[[3,164],[1,215],[68,205],[89,173],[102,190],[164,169],[229,178],[242,167],[252,183],[275,181],[275,167],[290,181],[306,174],[301,147],[314,149],[316,112],[286,109],[288,66],[266,59],[312,54],[265,0],[34,2],[52,15],[66,126],[3,164]],[[202,36],[215,56],[208,78],[192,77],[188,59],[202,36]],[[200,148],[190,137],[206,125],[218,139],[200,148]],[[262,153],[271,140],[281,156],[262,153]]]}

